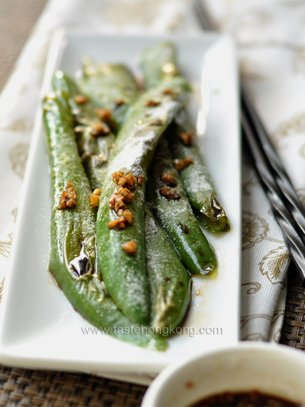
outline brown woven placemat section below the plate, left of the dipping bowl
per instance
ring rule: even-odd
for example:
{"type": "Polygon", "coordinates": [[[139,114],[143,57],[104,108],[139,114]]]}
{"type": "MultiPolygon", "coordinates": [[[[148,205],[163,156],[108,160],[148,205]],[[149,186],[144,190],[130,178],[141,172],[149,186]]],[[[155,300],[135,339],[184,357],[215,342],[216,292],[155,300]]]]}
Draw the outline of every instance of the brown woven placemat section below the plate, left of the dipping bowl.
{"type": "Polygon", "coordinates": [[[0,406],[138,406],[145,386],[84,374],[0,368],[0,406]]]}

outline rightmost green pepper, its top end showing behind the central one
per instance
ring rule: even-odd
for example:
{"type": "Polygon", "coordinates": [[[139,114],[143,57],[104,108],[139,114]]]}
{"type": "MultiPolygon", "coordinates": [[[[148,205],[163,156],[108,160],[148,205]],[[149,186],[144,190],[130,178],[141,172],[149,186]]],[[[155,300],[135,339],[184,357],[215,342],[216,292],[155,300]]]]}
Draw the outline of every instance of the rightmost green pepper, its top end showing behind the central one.
{"type": "MultiPolygon", "coordinates": [[[[177,74],[177,57],[174,44],[166,42],[146,48],[141,55],[141,67],[148,88],[164,77],[177,74]]],[[[180,171],[180,178],[190,203],[202,215],[204,226],[214,232],[230,230],[230,223],[217,197],[211,177],[200,155],[196,136],[191,146],[184,146],[179,134],[193,131],[185,109],[177,114],[177,129],[169,137],[169,148],[174,158],[192,158],[193,163],[180,171]]]]}

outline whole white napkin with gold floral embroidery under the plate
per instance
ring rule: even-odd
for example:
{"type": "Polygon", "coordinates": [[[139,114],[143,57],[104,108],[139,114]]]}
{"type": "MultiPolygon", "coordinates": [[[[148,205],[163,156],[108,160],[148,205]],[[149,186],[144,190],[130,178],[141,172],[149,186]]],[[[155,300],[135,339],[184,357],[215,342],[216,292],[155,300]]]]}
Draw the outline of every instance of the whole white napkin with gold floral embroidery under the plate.
{"type": "MultiPolygon", "coordinates": [[[[242,77],[300,198],[305,198],[305,2],[209,0],[207,5],[221,30],[235,38],[242,77]]],[[[56,26],[108,33],[200,31],[188,0],[49,0],[0,97],[1,287],[48,44],[56,26]]],[[[242,191],[241,338],[278,341],[289,255],[246,158],[242,191]]]]}

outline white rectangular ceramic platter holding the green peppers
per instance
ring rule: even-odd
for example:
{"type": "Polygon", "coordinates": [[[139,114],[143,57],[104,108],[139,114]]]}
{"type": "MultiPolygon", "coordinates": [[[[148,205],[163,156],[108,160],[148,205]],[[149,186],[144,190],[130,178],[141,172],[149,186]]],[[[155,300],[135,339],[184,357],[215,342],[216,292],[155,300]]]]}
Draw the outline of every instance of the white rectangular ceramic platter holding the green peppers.
{"type": "Polygon", "coordinates": [[[156,374],[178,358],[236,343],[241,172],[237,66],[231,39],[219,34],[177,38],[57,33],[50,47],[43,94],[50,88],[55,69],[75,75],[84,54],[97,62],[127,64],[138,75],[139,51],[165,40],[177,45],[181,72],[197,96],[202,89],[204,106],[207,99],[204,83],[208,79],[208,120],[201,148],[231,222],[229,233],[206,232],[216,250],[219,267],[212,276],[193,279],[192,304],[184,326],[197,331],[220,328],[222,334],[221,330],[218,334],[216,331],[195,336],[178,334],[168,340],[166,352],[153,352],[101,332],[83,333],[90,324],[72,308],[48,272],[52,197],[40,109],[1,306],[1,363],[86,372],[156,374]]]}

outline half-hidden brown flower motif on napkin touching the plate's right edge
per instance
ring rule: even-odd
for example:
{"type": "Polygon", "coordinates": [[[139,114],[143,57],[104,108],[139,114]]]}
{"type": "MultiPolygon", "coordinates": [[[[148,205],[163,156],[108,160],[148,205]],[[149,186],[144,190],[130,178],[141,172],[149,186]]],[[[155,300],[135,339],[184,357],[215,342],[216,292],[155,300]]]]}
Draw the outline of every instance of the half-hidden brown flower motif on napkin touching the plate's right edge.
{"type": "Polygon", "coordinates": [[[267,222],[248,211],[242,212],[242,250],[261,242],[269,230],[267,222]]]}

